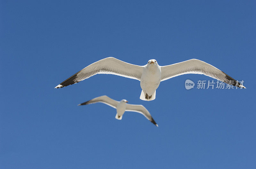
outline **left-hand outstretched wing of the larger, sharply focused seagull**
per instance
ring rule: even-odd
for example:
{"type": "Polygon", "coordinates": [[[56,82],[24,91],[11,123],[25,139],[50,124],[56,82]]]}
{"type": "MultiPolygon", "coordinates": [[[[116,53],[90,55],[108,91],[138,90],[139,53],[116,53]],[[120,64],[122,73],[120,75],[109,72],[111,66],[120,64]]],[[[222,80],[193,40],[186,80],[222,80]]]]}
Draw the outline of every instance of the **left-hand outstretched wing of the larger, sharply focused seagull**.
{"type": "Polygon", "coordinates": [[[140,81],[143,67],[126,63],[113,57],[105,58],[80,70],[55,88],[63,88],[87,79],[95,74],[115,74],[140,81]]]}

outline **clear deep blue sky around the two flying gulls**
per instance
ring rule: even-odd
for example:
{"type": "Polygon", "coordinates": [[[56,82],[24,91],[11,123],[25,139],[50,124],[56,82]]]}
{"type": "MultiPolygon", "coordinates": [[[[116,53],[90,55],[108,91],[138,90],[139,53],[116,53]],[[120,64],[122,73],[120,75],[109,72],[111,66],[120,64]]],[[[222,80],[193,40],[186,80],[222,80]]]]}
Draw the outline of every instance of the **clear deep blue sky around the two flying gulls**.
{"type": "Polygon", "coordinates": [[[1,168],[255,168],[255,1],[0,2],[1,168]],[[60,82],[105,57],[200,59],[247,89],[190,89],[188,74],[142,101],[140,82],[60,82]],[[105,104],[143,104],[159,124],[105,104]]]}

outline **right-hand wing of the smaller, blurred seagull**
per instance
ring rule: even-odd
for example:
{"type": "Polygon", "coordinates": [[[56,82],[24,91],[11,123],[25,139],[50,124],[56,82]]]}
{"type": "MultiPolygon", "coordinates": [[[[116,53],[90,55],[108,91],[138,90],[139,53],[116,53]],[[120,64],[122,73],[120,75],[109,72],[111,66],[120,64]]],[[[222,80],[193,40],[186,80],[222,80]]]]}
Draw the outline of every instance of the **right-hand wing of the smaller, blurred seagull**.
{"type": "Polygon", "coordinates": [[[148,110],[144,106],[142,106],[142,105],[126,104],[125,111],[134,111],[134,112],[140,113],[143,116],[145,116],[148,120],[150,120],[150,122],[152,122],[153,124],[155,124],[158,127],[158,125],[156,124],[155,120],[152,118],[152,116],[148,112],[148,110]]]}

